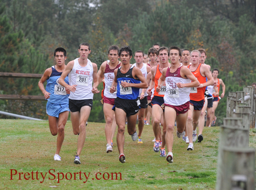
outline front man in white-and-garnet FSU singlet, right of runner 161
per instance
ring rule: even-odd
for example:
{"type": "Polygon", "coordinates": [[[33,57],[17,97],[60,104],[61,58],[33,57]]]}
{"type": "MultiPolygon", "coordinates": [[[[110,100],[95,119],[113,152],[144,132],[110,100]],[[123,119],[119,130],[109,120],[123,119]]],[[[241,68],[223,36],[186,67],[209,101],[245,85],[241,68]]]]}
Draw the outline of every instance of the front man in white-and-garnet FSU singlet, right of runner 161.
{"type": "Polygon", "coordinates": [[[189,68],[179,63],[181,50],[177,46],[169,48],[171,66],[164,68],[158,80],[156,92],[160,92],[163,83],[166,84],[164,96],[166,135],[165,142],[168,150],[166,160],[173,162],[173,131],[175,119],[177,122],[177,137],[182,137],[186,126],[187,111],[189,110],[190,87],[198,87],[199,82],[189,68]],[[191,80],[193,82],[191,82],[191,80]]]}

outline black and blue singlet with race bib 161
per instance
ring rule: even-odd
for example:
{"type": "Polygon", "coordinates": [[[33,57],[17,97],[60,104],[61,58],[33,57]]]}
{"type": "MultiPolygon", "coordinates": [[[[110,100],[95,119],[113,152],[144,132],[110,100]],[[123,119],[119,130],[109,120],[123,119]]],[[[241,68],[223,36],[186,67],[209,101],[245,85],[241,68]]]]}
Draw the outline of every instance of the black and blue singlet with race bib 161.
{"type": "Polygon", "coordinates": [[[122,87],[121,82],[139,84],[139,79],[134,79],[132,76],[132,70],[135,65],[132,65],[127,73],[122,74],[120,68],[117,70],[117,97],[126,100],[137,100],[139,96],[139,89],[135,87],[122,87]]]}

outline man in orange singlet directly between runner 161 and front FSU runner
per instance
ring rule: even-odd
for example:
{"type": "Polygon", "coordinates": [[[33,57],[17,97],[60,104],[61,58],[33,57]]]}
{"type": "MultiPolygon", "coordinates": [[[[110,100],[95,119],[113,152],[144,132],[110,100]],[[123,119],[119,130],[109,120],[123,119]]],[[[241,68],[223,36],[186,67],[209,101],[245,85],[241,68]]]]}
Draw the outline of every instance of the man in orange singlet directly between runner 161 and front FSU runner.
{"type": "MultiPolygon", "coordinates": [[[[150,94],[151,90],[153,88],[156,89],[158,87],[158,79],[161,76],[163,68],[167,68],[170,66],[168,62],[168,55],[169,55],[169,50],[166,47],[161,47],[158,50],[158,57],[160,60],[160,64],[157,66],[154,66],[151,69],[151,74],[152,74],[152,79],[150,82],[150,87],[147,90],[147,93],[150,94]]],[[[161,105],[164,103],[163,96],[165,94],[166,86],[164,85],[161,87],[160,92],[154,91],[154,97],[151,100],[151,105],[152,105],[152,127],[154,131],[154,135],[156,138],[156,142],[154,143],[154,148],[153,150],[155,152],[159,152],[159,146],[160,146],[160,139],[159,139],[159,126],[160,126],[160,121],[161,121],[161,116],[163,115],[163,109],[161,109],[161,105]]],[[[163,120],[164,120],[164,115],[163,115],[163,120]]],[[[162,143],[161,143],[161,148],[164,150],[165,147],[165,133],[166,133],[166,124],[165,120],[163,121],[163,135],[162,135],[162,143]]],[[[160,155],[161,151],[160,151],[160,155]]],[[[165,153],[164,153],[165,156],[165,153]]]]}

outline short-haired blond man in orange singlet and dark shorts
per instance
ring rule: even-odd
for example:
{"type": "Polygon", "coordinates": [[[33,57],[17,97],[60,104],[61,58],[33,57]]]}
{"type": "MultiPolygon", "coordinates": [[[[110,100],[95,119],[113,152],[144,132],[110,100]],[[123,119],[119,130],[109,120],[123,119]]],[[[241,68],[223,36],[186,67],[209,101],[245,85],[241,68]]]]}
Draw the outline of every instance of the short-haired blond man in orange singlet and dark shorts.
{"type": "Polygon", "coordinates": [[[187,136],[189,138],[189,146],[187,150],[193,150],[193,138],[197,139],[197,125],[200,113],[204,107],[204,91],[208,85],[213,85],[214,81],[208,66],[199,63],[201,53],[198,50],[191,52],[192,64],[188,66],[192,74],[197,78],[200,85],[191,87],[190,89],[190,106],[187,116],[187,136]],[[206,82],[206,77],[209,81],[206,82]]]}

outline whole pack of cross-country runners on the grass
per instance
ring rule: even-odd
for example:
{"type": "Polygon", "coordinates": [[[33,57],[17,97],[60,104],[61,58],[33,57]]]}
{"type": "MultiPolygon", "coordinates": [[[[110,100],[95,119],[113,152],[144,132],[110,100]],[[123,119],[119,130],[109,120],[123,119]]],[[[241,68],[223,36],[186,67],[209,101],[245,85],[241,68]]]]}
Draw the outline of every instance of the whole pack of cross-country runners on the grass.
{"type": "Polygon", "coordinates": [[[113,45],[108,49],[109,60],[102,63],[99,70],[88,59],[91,53],[88,43],[80,44],[78,52],[80,57],[65,65],[67,52],[64,48],[57,48],[54,51],[56,65],[46,69],[38,84],[48,100],[46,113],[50,131],[52,135],[58,135],[54,160],[61,160],[59,152],[70,111],[73,133],[78,135],[74,163],[81,164],[80,155],[85,143],[87,120],[93,107],[93,94],[100,92],[97,87],[101,82],[104,83],[102,104],[106,120],[106,152],[113,151],[113,136],[118,126],[116,139],[119,161],[122,163],[126,161],[126,123],[132,140],[142,144],[143,127],[145,123],[150,123],[151,116],[155,136],[153,150],[160,152],[160,156],[166,157],[171,163],[175,123],[177,137],[182,137],[189,144],[187,150],[193,150],[193,142],[203,140],[206,114],[206,126],[210,127],[215,122],[219,88],[222,85],[223,98],[225,85],[217,78],[219,70],[213,69],[211,74],[210,66],[204,64],[204,49],[190,52],[177,46],[167,48],[154,44],[146,57],[141,50],[133,54],[129,46],[119,49],[113,45]],[[135,63],[132,65],[133,55],[135,63]],[[46,89],[43,85],[45,81],[46,89]],[[144,122],[145,117],[147,122],[144,122]]]}

